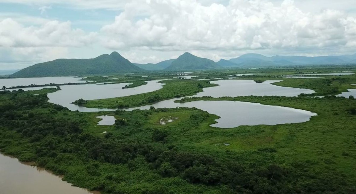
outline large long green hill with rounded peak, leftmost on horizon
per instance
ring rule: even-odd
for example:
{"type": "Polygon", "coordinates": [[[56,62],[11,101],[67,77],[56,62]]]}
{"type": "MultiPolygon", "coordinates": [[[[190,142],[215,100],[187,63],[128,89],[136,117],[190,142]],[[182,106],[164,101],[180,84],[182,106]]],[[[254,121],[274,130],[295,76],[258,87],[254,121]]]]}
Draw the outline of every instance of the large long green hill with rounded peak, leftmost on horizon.
{"type": "Polygon", "coordinates": [[[22,69],[10,77],[46,77],[67,75],[95,75],[111,73],[140,72],[143,69],[133,65],[117,52],[103,54],[93,59],[56,59],[38,63],[22,69]]]}

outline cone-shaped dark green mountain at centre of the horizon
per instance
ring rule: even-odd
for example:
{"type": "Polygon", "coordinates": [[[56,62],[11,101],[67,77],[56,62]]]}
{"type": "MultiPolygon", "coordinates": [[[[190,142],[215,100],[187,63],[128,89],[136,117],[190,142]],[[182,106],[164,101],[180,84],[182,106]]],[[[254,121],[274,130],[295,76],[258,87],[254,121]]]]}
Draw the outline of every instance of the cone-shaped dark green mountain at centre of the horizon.
{"type": "Polygon", "coordinates": [[[175,59],[165,70],[195,70],[220,68],[214,61],[200,58],[190,53],[184,53],[175,59]]]}

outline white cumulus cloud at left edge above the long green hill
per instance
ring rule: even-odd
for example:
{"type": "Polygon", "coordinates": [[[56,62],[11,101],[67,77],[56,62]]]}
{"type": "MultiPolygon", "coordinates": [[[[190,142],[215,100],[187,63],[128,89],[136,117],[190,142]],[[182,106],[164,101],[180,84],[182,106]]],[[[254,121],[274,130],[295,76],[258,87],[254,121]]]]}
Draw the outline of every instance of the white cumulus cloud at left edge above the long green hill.
{"type": "Polygon", "coordinates": [[[0,69],[22,68],[38,62],[66,58],[68,48],[85,47],[96,33],[73,29],[71,23],[43,20],[40,25],[24,26],[11,19],[0,20],[0,69]]]}

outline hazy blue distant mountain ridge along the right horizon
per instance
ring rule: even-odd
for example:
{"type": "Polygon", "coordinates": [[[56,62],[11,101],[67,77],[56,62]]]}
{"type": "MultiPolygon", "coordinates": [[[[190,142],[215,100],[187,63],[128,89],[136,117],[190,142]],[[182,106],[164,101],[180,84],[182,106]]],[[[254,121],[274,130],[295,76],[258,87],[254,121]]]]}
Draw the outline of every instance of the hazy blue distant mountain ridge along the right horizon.
{"type": "MultiPolygon", "coordinates": [[[[266,57],[262,54],[249,53],[240,57],[225,60],[233,64],[229,67],[263,67],[276,65],[326,65],[326,64],[346,64],[355,63],[356,54],[342,56],[272,56],[266,57]]],[[[221,61],[221,60],[220,60],[221,61]]],[[[227,64],[227,62],[224,62],[227,64]]],[[[219,63],[219,62],[218,62],[219,63]]],[[[224,66],[224,65],[221,65],[224,66]]],[[[224,66],[227,67],[227,66],[224,66]]]]}

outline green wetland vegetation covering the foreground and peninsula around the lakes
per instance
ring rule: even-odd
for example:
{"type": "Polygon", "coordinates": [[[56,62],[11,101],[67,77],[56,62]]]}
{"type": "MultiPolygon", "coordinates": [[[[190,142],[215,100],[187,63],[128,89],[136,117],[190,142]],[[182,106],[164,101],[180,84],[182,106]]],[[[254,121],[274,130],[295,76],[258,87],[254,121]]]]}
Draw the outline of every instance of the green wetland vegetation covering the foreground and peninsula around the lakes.
{"type": "MultiPolygon", "coordinates": [[[[332,84],[341,89],[345,86],[339,83],[344,81],[332,84]]],[[[110,102],[131,106],[155,96],[192,95],[201,91],[199,84],[211,86],[206,81],[164,82],[166,89],[110,102]]],[[[298,124],[219,129],[209,127],[217,116],[195,108],[69,111],[47,102],[46,93],[53,91],[57,89],[0,91],[0,150],[64,175],[76,186],[103,194],[356,192],[356,121],[350,114],[356,107],[354,100],[336,96],[182,99],[248,101],[318,114],[298,124]],[[94,116],[103,113],[116,117],[114,126],[96,125],[94,116]],[[158,125],[168,116],[179,119],[158,125]]]]}

